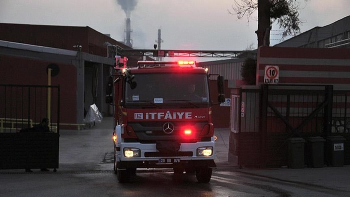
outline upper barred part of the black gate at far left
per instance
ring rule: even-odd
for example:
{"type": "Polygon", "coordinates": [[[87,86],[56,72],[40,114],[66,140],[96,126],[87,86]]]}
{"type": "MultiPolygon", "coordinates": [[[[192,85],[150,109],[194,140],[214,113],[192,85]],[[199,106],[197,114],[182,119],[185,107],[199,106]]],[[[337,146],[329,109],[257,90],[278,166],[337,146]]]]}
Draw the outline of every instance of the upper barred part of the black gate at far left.
{"type": "Polygon", "coordinates": [[[42,118],[59,132],[59,85],[0,84],[0,132],[19,132],[42,118]]]}

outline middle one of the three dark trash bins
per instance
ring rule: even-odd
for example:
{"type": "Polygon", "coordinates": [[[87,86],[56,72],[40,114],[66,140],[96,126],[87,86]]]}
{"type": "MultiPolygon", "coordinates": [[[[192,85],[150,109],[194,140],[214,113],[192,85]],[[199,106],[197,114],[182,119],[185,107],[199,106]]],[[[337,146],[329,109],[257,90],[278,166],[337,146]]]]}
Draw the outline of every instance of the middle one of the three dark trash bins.
{"type": "Polygon", "coordinates": [[[307,165],[310,167],[323,167],[323,143],[325,139],[320,136],[311,136],[307,137],[306,140],[307,165]]]}

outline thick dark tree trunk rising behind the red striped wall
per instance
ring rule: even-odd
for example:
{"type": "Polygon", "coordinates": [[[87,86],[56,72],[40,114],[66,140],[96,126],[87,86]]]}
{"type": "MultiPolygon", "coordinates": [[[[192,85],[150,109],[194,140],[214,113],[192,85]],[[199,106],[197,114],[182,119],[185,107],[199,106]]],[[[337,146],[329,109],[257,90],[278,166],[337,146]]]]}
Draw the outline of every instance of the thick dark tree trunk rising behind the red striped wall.
{"type": "Polygon", "coordinates": [[[257,0],[257,47],[270,45],[270,3],[257,0]]]}

